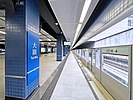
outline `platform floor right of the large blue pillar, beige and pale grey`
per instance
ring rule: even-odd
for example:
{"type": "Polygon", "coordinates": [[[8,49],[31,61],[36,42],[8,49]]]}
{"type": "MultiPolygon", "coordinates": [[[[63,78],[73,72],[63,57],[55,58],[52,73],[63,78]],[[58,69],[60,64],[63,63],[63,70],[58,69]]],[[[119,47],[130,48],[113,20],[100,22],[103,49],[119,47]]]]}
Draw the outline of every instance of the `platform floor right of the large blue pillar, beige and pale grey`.
{"type": "Polygon", "coordinates": [[[41,85],[27,100],[113,100],[99,92],[81,66],[72,52],[62,62],[55,60],[54,53],[42,55],[41,85]]]}

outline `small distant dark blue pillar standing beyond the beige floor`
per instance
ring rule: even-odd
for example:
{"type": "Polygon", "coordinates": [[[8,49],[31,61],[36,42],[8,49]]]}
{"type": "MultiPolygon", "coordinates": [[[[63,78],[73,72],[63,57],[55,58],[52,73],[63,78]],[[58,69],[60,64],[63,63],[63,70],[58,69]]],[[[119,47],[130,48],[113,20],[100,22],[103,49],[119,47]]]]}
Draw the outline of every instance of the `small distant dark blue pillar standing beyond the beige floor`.
{"type": "Polygon", "coordinates": [[[63,37],[57,36],[57,61],[61,61],[63,56],[63,37]]]}

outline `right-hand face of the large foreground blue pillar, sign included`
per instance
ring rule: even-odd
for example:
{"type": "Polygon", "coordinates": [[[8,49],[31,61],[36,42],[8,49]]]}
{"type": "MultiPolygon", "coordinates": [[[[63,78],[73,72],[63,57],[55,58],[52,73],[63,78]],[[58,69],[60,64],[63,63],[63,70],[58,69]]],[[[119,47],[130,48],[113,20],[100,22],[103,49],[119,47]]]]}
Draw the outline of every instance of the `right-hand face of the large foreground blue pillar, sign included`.
{"type": "MultiPolygon", "coordinates": [[[[27,85],[26,85],[27,96],[39,85],[39,68],[38,68],[39,67],[39,24],[40,24],[39,0],[26,0],[26,31],[28,31],[28,36],[30,35],[30,37],[32,37],[31,41],[32,43],[30,44],[32,47],[31,51],[32,57],[37,57],[38,55],[38,59],[33,59],[31,62],[28,60],[28,68],[27,68],[28,75],[27,75],[27,85]],[[33,48],[34,43],[38,49],[37,50],[38,52],[36,52],[37,55],[36,54],[34,55],[34,50],[36,50],[36,48],[33,48]],[[32,73],[30,73],[31,71],[32,73]]],[[[29,56],[27,59],[29,59],[30,57],[31,56],[29,56]]]]}

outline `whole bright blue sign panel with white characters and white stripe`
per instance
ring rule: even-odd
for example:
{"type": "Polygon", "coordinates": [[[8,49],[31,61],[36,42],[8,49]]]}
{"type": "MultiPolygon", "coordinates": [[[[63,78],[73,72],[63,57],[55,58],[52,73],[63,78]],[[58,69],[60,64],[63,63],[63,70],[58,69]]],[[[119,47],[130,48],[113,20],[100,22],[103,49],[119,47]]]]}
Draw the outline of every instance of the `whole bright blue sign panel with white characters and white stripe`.
{"type": "Polygon", "coordinates": [[[27,80],[28,84],[33,82],[39,77],[39,54],[40,44],[39,35],[28,32],[28,68],[27,68],[27,80]]]}

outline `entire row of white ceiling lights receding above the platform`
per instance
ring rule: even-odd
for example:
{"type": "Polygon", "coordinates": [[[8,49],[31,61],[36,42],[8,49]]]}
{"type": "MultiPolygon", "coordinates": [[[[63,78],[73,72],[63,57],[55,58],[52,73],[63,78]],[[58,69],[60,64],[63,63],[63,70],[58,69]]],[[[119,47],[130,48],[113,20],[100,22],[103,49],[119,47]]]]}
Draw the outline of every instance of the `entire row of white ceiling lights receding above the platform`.
{"type": "Polygon", "coordinates": [[[78,36],[78,33],[81,29],[82,23],[85,19],[85,16],[87,14],[87,11],[89,9],[91,1],[92,0],[85,0],[84,6],[83,6],[83,9],[82,9],[82,13],[81,13],[81,16],[80,16],[79,24],[78,24],[77,29],[76,29],[76,34],[75,34],[75,37],[74,37],[74,41],[76,40],[76,37],[78,36]]]}

